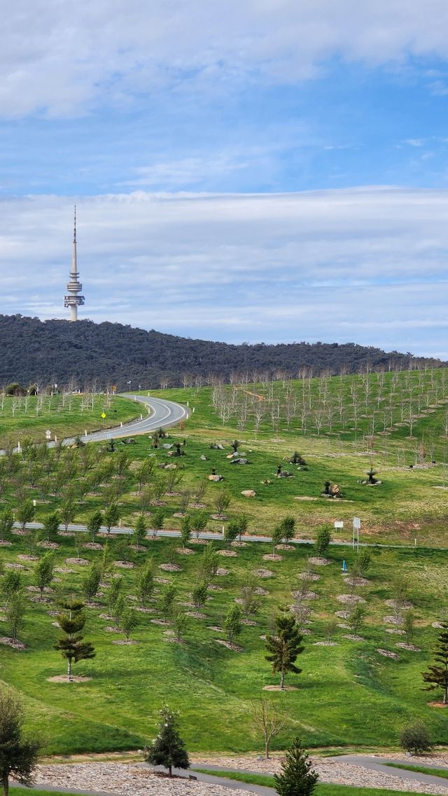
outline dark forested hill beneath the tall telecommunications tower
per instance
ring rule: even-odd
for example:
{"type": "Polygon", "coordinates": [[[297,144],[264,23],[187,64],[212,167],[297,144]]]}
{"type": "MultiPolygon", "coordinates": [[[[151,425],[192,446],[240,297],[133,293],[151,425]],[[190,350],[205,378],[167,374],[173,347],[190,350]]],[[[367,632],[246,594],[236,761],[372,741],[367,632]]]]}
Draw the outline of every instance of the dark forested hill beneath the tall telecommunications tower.
{"type": "MultiPolygon", "coordinates": [[[[289,343],[279,345],[229,345],[205,340],[177,338],[154,330],[146,331],[120,323],[92,321],[45,321],[21,315],[0,315],[0,384],[18,381],[27,385],[76,384],[96,380],[116,384],[119,389],[142,384],[181,384],[185,374],[211,375],[228,380],[231,373],[280,372],[297,376],[300,369],[314,375],[356,373],[365,365],[372,369],[405,368],[409,354],[346,343],[289,343]]],[[[439,361],[427,360],[429,365],[439,361]]]]}

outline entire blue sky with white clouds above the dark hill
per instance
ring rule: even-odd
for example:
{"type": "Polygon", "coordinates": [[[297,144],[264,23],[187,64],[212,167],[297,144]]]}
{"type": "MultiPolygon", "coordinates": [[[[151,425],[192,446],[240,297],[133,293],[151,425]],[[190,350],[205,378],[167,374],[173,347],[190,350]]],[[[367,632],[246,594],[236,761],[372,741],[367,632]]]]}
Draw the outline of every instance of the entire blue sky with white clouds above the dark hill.
{"type": "Polygon", "coordinates": [[[446,0],[0,10],[0,312],[448,359],[446,0]]]}

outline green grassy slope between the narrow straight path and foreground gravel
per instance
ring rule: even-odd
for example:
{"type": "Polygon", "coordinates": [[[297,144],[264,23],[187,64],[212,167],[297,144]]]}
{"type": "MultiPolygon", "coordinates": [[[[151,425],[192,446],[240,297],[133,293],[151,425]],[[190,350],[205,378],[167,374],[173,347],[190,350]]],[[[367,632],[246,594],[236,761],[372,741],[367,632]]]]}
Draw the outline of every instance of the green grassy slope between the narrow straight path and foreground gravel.
{"type": "MultiPolygon", "coordinates": [[[[378,550],[367,582],[354,590],[365,600],[366,618],[365,626],[358,631],[360,640],[353,641],[345,638],[350,631],[340,615],[347,610],[346,602],[341,602],[347,598],[341,595],[352,591],[341,572],[343,559],[348,560],[350,571],[353,552],[349,548],[332,548],[326,566],[310,563],[308,546],[279,550],[281,560],[274,561],[265,559],[271,548],[263,544],[233,548],[233,556],[220,556],[223,570],[212,579],[205,607],[199,617],[189,617],[185,640],[176,643],[173,618],[162,622],[160,590],[166,581],[174,583],[177,606],[194,614],[191,590],[199,579],[205,546],[190,544],[193,552],[185,555],[177,550],[178,542],[169,540],[148,541],[142,551],[123,549],[123,540],[111,541],[110,563],[99,594],[88,608],[86,636],[95,644],[96,657],[75,667],[76,675],[91,679],[66,685],[49,681],[49,677],[65,671],[64,661],[53,649],[60,634],[53,624],[55,600],[61,592],[80,594],[86,567],[67,561],[79,551],[72,538],[59,537],[56,582],[40,602],[37,592],[28,588],[35,583],[36,564],[23,558],[29,554],[26,537],[11,535],[10,541],[2,558],[6,568],[20,566],[27,614],[19,638],[27,648],[19,651],[0,646],[2,681],[23,696],[29,724],[43,732],[48,751],[142,747],[153,736],[163,701],[181,710],[182,732],[192,750],[249,751],[260,747],[251,722],[251,700],[262,694],[279,704],[289,717],[288,728],[276,740],[278,748],[286,744],[291,732],[299,732],[310,746],[393,745],[402,724],[417,717],[428,724],[434,741],[446,740],[446,716],[428,706],[434,696],[421,690],[421,672],[430,660],[429,651],[437,634],[432,622],[448,611],[446,552],[378,550]],[[124,569],[113,564],[123,556],[128,562],[124,569]],[[139,624],[131,636],[138,643],[114,644],[124,636],[107,630],[115,626],[111,618],[114,611],[107,604],[111,582],[123,577],[126,602],[135,606],[138,568],[150,558],[156,591],[148,603],[150,611],[138,614],[139,624]],[[166,571],[160,564],[174,564],[175,571],[166,571]],[[225,638],[220,630],[224,616],[240,596],[248,573],[260,569],[271,572],[271,576],[259,576],[263,592],[258,598],[258,611],[250,615],[236,639],[241,651],[228,650],[217,642],[225,638]],[[311,594],[306,592],[304,599],[296,593],[302,583],[301,572],[315,577],[310,582],[311,594]],[[397,647],[403,635],[388,632],[399,628],[390,618],[395,612],[386,600],[393,599],[400,573],[408,579],[406,599],[415,611],[412,642],[421,651],[397,647]],[[279,678],[271,675],[270,665],[264,660],[260,636],[270,631],[272,616],[285,604],[294,604],[300,621],[305,622],[306,650],[298,661],[303,671],[286,681],[297,690],[267,693],[263,686],[275,685],[279,678]],[[306,606],[311,611],[307,617],[306,606]],[[341,626],[333,626],[334,619],[341,626]],[[321,646],[329,640],[334,646],[321,646]],[[378,650],[396,657],[384,657],[378,650]]],[[[103,544],[104,540],[98,542],[103,544]]],[[[37,555],[42,552],[37,548],[37,555]]],[[[103,552],[103,548],[86,548],[82,556],[100,564],[103,552]]],[[[4,609],[1,613],[5,616],[4,609]]],[[[403,613],[400,610],[399,616],[403,613]]],[[[2,626],[8,634],[4,618],[2,626]]]]}

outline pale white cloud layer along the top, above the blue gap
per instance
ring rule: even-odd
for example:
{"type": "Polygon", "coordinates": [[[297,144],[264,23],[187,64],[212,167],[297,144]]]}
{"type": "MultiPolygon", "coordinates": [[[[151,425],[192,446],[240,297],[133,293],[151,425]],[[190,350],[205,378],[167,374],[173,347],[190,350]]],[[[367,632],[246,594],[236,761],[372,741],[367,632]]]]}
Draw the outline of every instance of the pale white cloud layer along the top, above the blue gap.
{"type": "Polygon", "coordinates": [[[0,114],[13,117],[156,90],[294,84],[329,57],[448,56],[446,0],[1,0],[0,10],[0,114]]]}

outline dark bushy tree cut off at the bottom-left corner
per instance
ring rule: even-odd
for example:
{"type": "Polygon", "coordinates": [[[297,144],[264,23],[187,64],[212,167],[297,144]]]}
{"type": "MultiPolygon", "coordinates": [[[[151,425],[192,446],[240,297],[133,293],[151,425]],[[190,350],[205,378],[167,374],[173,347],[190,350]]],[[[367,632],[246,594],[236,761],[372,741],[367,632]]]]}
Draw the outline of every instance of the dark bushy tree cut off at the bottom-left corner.
{"type": "Polygon", "coordinates": [[[0,781],[3,796],[10,792],[10,775],[21,785],[33,783],[39,742],[23,734],[23,710],[17,696],[0,690],[0,781]]]}

